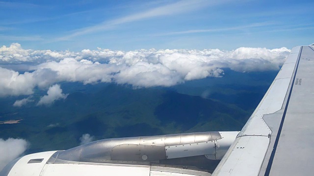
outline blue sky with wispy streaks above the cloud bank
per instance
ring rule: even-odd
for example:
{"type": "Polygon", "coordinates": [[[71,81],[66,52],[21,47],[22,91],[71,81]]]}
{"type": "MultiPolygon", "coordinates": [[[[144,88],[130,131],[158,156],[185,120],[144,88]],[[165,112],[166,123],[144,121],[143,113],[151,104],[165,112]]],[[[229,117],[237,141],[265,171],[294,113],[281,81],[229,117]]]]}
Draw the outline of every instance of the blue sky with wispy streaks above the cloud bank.
{"type": "Polygon", "coordinates": [[[0,1],[0,45],[80,51],[314,43],[314,1],[0,1]]]}

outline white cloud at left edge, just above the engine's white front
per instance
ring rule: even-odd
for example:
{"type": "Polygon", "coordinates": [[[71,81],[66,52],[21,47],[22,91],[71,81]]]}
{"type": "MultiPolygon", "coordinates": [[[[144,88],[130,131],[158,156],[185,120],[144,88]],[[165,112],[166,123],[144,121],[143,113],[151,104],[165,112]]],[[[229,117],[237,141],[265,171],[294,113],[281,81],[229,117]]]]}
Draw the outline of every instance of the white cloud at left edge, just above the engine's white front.
{"type": "Polygon", "coordinates": [[[19,157],[27,149],[27,142],[24,139],[0,138],[0,171],[13,159],[19,157]]]}

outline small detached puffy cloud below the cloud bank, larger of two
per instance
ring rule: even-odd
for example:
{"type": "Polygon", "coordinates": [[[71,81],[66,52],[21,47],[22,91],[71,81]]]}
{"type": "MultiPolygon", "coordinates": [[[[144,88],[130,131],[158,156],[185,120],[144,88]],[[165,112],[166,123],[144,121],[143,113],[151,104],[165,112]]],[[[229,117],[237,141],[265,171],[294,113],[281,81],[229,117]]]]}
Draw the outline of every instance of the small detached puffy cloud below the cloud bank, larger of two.
{"type": "Polygon", "coordinates": [[[48,95],[44,95],[43,97],[40,98],[39,102],[37,105],[46,105],[49,106],[51,105],[54,101],[60,100],[60,99],[66,99],[68,94],[63,94],[62,89],[60,88],[60,85],[53,85],[51,86],[48,91],[48,95]]]}

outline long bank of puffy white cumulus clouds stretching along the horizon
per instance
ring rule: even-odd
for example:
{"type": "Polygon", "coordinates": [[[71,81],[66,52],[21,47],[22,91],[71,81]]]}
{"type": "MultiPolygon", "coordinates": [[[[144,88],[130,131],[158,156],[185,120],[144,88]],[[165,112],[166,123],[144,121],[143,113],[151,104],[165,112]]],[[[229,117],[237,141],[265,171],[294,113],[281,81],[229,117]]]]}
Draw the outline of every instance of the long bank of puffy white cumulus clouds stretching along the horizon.
{"type": "Polygon", "coordinates": [[[285,47],[128,52],[97,48],[71,52],[30,50],[11,44],[0,48],[0,96],[31,95],[36,87],[49,88],[59,82],[169,87],[209,76],[220,77],[224,68],[240,72],[278,70],[289,52],[285,47]],[[20,73],[21,67],[28,70],[20,73]]]}

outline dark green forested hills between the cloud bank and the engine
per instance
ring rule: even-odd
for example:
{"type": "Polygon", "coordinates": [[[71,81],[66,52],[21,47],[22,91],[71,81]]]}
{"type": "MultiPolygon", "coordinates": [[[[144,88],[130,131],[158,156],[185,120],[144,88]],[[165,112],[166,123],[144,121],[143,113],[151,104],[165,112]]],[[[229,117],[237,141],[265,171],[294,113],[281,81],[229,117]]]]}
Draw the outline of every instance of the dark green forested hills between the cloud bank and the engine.
{"type": "MultiPolygon", "coordinates": [[[[66,87],[64,87],[66,89],[66,87]]],[[[36,101],[35,101],[36,102],[36,101]]],[[[84,133],[95,139],[179,132],[238,131],[250,114],[234,105],[160,88],[108,85],[95,93],[74,91],[51,107],[12,107],[2,99],[0,138],[24,138],[27,151],[64,150],[79,145],[84,133]]]]}

